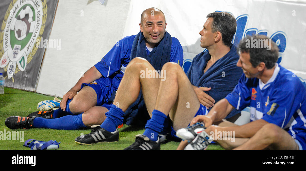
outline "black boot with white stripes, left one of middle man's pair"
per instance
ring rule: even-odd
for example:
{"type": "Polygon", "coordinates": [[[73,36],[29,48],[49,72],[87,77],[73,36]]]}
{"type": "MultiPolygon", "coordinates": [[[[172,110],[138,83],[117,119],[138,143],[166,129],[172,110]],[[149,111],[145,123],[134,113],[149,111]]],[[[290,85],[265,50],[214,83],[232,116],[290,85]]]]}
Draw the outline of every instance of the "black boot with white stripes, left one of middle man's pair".
{"type": "Polygon", "coordinates": [[[114,132],[106,131],[100,125],[92,125],[89,134],[78,136],[74,142],[82,145],[91,145],[94,143],[111,143],[119,140],[118,128],[114,132]]]}

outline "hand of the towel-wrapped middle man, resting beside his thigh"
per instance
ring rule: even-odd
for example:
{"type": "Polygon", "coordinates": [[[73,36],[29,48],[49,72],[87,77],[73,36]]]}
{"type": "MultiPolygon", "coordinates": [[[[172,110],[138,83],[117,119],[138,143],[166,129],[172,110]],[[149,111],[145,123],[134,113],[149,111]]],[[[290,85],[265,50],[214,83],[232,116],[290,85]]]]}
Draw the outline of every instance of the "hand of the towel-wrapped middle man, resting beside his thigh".
{"type": "Polygon", "coordinates": [[[215,104],[215,100],[210,97],[207,93],[204,93],[204,91],[209,91],[211,90],[211,87],[194,87],[194,91],[196,92],[196,95],[200,101],[200,103],[204,106],[206,106],[206,108],[211,108],[213,107],[215,104]]]}

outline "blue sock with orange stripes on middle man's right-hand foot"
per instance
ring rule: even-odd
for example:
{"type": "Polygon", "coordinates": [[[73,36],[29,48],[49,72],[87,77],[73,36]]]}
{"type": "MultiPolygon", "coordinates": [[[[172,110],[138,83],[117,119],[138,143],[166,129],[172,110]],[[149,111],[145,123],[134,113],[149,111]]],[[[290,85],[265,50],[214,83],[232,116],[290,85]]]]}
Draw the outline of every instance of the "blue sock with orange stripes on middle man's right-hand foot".
{"type": "Polygon", "coordinates": [[[166,121],[167,116],[164,113],[158,110],[153,110],[152,118],[147,121],[147,124],[144,127],[144,135],[152,141],[157,141],[158,134],[163,131],[166,121]]]}

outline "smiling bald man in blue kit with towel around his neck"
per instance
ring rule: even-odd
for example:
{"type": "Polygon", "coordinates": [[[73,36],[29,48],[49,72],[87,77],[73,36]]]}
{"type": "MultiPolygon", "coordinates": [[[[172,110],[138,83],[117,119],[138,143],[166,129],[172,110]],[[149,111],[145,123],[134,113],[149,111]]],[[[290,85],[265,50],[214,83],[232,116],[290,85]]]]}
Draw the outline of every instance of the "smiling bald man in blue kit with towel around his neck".
{"type": "Polygon", "coordinates": [[[182,66],[182,46],[166,32],[166,25],[161,10],[144,10],[139,24],[140,32],[119,40],[100,62],[86,71],[84,77],[63,96],[59,109],[34,112],[28,117],[11,116],[6,119],[6,126],[11,129],[76,130],[102,124],[105,113],[112,107],[112,94],[115,95],[125,68],[133,58],[143,57],[160,69],[166,62],[181,62],[182,66]]]}

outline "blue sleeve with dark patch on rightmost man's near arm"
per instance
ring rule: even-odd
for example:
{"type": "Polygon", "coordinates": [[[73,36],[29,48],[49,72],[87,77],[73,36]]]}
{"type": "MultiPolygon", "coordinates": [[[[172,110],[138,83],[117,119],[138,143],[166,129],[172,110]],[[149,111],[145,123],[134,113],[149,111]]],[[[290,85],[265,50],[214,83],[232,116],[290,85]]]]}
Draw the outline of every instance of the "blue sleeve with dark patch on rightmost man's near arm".
{"type": "Polygon", "coordinates": [[[276,89],[270,94],[262,119],[284,128],[300,104],[297,103],[294,91],[276,89]]]}

